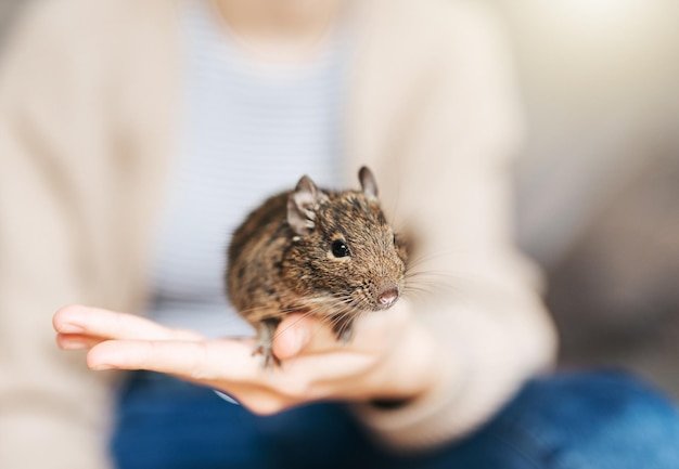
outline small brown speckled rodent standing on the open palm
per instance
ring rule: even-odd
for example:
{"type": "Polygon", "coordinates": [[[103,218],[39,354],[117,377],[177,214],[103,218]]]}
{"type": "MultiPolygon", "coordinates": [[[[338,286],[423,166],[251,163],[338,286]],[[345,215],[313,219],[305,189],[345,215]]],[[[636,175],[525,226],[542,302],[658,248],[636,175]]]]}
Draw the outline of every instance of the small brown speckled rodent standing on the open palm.
{"type": "Polygon", "coordinates": [[[255,353],[267,368],[279,363],[271,341],[285,314],[320,315],[346,341],[361,313],[392,307],[403,290],[406,249],[382,212],[372,172],[362,167],[358,174],[361,191],[343,192],[304,175],[233,234],[226,288],[257,330],[255,353]]]}

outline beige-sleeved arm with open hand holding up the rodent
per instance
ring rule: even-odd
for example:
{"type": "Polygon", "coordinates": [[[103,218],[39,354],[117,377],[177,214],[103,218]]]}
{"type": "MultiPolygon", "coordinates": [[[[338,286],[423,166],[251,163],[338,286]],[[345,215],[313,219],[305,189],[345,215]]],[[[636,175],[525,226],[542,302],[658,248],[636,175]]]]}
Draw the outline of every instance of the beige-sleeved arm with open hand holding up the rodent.
{"type": "Polygon", "coordinates": [[[398,200],[397,224],[414,231],[417,270],[434,287],[430,301],[413,295],[367,315],[347,346],[313,318],[291,315],[273,342],[283,366],[272,373],[261,369],[248,341],[205,340],[91,308],[56,313],[60,344],[91,349],[93,369],[172,374],[262,414],[324,399],[400,400],[388,411],[356,405],[366,426],[395,446],[440,444],[483,422],[553,353],[536,277],[511,244],[507,155],[516,121],[507,70],[494,58],[497,38],[484,18],[460,17],[449,28],[454,40],[436,49],[456,61],[435,57],[443,68],[408,129],[413,156],[373,168],[387,174],[396,166],[407,175],[390,188],[384,181],[384,200],[386,207],[398,200]]]}

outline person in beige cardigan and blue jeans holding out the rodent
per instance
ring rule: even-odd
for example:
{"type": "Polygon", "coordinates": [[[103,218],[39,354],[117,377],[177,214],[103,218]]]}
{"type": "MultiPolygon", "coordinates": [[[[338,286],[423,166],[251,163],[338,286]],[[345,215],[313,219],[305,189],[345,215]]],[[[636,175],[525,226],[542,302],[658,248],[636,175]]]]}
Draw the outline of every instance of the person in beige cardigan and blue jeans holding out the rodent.
{"type": "Polygon", "coordinates": [[[0,466],[679,460],[675,411],[644,386],[542,376],[554,331],[511,242],[521,119],[481,5],[52,0],[5,65],[0,466]],[[347,344],[291,314],[266,372],[226,320],[228,232],[279,184],[349,185],[360,165],[412,239],[411,295],[347,344]],[[115,376],[51,347],[64,304],[63,349],[161,375],[113,402],[115,376]]]}

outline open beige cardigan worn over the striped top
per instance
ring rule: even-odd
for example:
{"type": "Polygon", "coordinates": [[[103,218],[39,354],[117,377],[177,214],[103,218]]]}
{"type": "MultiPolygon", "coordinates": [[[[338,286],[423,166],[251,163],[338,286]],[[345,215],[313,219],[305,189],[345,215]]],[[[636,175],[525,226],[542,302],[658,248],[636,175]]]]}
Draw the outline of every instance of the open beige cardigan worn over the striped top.
{"type": "MultiPolygon", "coordinates": [[[[178,9],[34,3],[0,76],[0,467],[97,469],[110,375],[59,351],[51,316],[72,302],[143,310],[177,133],[178,9]]],[[[554,335],[511,244],[521,120],[491,16],[464,1],[360,5],[346,180],[370,165],[395,224],[417,237],[422,282],[439,291],[418,317],[448,353],[440,388],[356,411],[385,443],[426,447],[469,432],[550,364],[554,335]]]]}

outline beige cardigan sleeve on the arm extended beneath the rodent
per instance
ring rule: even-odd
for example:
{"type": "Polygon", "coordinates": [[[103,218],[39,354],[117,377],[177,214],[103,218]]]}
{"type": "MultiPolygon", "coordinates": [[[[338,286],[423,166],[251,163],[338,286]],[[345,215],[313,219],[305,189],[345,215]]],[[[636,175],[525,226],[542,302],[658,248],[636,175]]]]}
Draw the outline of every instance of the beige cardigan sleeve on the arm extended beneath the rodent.
{"type": "Polygon", "coordinates": [[[541,277],[512,240],[511,156],[522,119],[507,52],[489,12],[450,2],[438,13],[435,79],[399,132],[410,145],[385,156],[377,173],[392,171],[397,183],[385,181],[383,194],[387,205],[398,199],[396,225],[413,234],[410,276],[431,292],[412,301],[413,316],[439,350],[439,380],[396,407],[354,406],[377,440],[400,450],[478,428],[549,367],[555,349],[541,277]]]}

